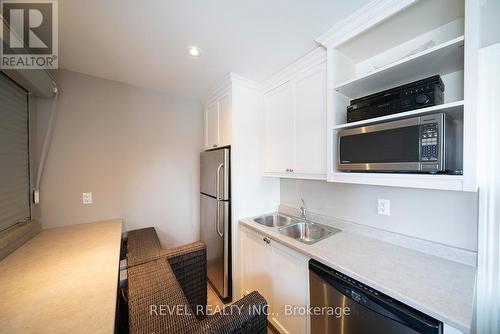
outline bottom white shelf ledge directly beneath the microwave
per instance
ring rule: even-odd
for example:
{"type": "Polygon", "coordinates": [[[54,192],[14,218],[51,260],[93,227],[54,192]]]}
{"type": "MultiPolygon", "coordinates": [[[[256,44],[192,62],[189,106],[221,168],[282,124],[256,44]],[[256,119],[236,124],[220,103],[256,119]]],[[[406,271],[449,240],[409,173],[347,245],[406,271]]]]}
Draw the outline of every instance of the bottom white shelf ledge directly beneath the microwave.
{"type": "Polygon", "coordinates": [[[334,172],[328,181],[388,187],[463,190],[462,175],[334,172]]]}

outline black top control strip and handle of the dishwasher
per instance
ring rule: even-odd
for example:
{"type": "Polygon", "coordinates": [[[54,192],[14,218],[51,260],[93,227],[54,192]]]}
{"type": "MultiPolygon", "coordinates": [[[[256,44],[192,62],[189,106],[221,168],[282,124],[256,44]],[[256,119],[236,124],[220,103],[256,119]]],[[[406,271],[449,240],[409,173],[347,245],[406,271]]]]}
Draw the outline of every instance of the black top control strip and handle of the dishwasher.
{"type": "Polygon", "coordinates": [[[422,334],[442,333],[442,323],[344,274],[311,260],[309,269],[350,300],[422,334]]]}

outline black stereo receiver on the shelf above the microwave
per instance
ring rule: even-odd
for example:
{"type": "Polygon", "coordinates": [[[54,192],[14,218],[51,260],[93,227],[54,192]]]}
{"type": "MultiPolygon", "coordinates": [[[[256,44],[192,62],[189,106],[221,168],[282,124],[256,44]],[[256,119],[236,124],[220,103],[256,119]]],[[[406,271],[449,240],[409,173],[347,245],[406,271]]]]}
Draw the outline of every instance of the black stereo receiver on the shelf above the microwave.
{"type": "Polygon", "coordinates": [[[397,114],[443,103],[444,84],[439,75],[394,87],[351,101],[347,122],[397,114]]]}

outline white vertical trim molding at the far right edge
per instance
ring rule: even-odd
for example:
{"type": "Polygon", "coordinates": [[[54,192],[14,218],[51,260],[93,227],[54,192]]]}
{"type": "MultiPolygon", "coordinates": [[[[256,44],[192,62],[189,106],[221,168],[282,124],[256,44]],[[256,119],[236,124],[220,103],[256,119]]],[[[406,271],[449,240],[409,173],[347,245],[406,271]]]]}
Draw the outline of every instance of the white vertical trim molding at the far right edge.
{"type": "Polygon", "coordinates": [[[500,43],[480,50],[478,267],[473,333],[500,332],[500,43]],[[474,331],[475,330],[475,331],[474,331]]]}

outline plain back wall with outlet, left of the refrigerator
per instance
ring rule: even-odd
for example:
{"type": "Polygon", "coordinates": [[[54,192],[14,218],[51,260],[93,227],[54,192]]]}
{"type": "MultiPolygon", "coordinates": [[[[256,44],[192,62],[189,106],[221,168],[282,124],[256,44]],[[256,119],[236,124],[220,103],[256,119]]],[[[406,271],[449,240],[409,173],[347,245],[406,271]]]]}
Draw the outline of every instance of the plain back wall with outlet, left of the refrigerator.
{"type": "MultiPolygon", "coordinates": [[[[199,239],[199,101],[60,71],[57,121],[41,183],[44,228],[124,218],[167,245],[199,239]],[[92,192],[94,203],[82,204],[92,192]]],[[[35,159],[51,101],[38,99],[35,159]]]]}

